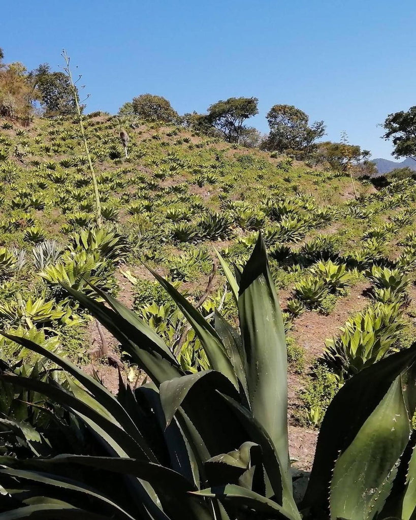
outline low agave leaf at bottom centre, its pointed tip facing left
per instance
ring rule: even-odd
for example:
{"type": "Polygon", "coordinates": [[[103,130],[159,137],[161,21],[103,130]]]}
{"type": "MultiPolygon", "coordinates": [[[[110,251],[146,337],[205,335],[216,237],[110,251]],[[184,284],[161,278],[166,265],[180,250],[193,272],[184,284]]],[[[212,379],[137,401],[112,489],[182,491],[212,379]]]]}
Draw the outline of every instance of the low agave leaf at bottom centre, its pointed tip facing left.
{"type": "Polygon", "coordinates": [[[286,520],[288,518],[295,520],[296,518],[276,502],[235,484],[202,489],[201,491],[192,491],[192,495],[205,498],[216,498],[224,502],[228,501],[230,504],[236,506],[249,506],[258,513],[268,513],[273,515],[274,518],[285,518],[286,520]]]}

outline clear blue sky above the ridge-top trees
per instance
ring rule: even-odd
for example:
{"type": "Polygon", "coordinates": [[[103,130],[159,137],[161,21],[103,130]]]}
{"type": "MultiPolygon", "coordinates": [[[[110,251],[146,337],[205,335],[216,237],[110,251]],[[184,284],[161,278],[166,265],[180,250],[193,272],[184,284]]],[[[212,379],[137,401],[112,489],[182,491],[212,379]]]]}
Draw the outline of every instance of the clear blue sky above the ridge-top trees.
{"type": "Polygon", "coordinates": [[[179,112],[231,96],[259,98],[267,131],[275,103],[323,119],[328,139],[389,158],[385,116],[416,105],[414,0],[17,0],[1,9],[6,61],[57,68],[62,48],[91,94],[115,113],[160,94],[179,112]]]}

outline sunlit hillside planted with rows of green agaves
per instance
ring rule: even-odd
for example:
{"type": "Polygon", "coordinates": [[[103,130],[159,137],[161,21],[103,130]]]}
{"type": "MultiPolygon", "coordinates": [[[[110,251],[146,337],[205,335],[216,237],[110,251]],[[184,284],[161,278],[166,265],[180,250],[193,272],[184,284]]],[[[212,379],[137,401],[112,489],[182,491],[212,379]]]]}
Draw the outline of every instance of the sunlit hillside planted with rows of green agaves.
{"type": "MultiPolygon", "coordinates": [[[[316,365],[326,340],[349,352],[351,337],[340,339],[339,328],[356,316],[347,329],[365,343],[367,359],[380,345],[387,352],[415,338],[415,181],[355,179],[353,187],[343,172],[180,127],[126,130],[127,158],[118,120],[87,118],[105,221],[97,231],[78,126],[62,117],[30,127],[0,121],[3,329],[58,349],[112,389],[117,366],[138,384],[144,376],[60,285],[92,294],[89,280],[144,317],[184,368],[206,367],[198,340],[143,264],[205,316],[219,308],[237,324],[214,247],[240,267],[261,229],[288,334],[292,454],[307,467],[323,411],[355,370],[316,365]]],[[[8,362],[28,359],[9,340],[0,348],[8,362]]]]}

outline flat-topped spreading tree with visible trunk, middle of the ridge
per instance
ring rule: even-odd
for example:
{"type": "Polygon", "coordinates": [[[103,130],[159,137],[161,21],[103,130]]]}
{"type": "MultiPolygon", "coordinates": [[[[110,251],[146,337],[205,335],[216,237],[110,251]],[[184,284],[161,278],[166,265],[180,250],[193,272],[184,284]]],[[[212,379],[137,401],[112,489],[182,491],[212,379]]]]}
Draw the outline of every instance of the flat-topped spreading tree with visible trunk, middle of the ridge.
{"type": "Polygon", "coordinates": [[[208,120],[228,142],[240,143],[244,121],[258,114],[257,103],[255,97],[219,100],[208,108],[208,120]]]}

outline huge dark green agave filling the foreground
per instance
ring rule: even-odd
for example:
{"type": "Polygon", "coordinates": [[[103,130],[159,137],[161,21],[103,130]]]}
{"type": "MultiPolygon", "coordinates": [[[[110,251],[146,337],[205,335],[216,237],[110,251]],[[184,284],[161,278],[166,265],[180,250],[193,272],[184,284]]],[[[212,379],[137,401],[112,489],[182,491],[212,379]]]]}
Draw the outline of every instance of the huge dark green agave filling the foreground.
{"type": "MultiPolygon", "coordinates": [[[[159,275],[198,335],[211,370],[184,373],[160,337],[101,291],[68,289],[150,376],[113,396],[69,361],[15,337],[68,384],[3,373],[86,425],[82,456],[0,459],[0,518],[247,520],[416,518],[416,347],[353,376],[328,408],[306,494],[296,503],[288,451],[283,323],[264,244],[237,279],[240,331],[215,327],[159,275]],[[85,450],[84,450],[85,451],[85,450]]],[[[296,484],[296,483],[295,483],[296,484]]]]}

